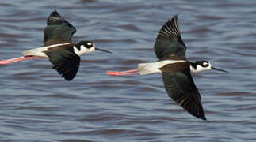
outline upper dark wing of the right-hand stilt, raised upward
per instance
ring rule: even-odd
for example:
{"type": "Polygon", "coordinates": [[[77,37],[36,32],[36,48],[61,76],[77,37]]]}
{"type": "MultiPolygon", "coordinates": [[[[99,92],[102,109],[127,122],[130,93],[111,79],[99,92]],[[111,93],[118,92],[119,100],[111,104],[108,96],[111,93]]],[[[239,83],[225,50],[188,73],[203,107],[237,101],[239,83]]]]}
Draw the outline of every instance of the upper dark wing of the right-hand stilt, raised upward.
{"type": "Polygon", "coordinates": [[[167,21],[159,31],[155,39],[154,46],[156,57],[159,60],[164,58],[184,58],[185,59],[185,43],[181,39],[178,29],[178,17],[175,15],[171,20],[167,21]]]}

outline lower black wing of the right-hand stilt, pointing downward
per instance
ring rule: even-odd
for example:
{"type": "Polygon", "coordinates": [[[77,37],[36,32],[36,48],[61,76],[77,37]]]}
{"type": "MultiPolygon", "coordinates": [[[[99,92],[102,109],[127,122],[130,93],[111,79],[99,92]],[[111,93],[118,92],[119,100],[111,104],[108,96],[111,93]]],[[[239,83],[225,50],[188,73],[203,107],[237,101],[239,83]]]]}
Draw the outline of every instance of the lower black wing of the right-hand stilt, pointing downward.
{"type": "Polygon", "coordinates": [[[201,96],[193,82],[190,71],[163,72],[162,80],[171,99],[197,118],[206,120],[201,96]]]}

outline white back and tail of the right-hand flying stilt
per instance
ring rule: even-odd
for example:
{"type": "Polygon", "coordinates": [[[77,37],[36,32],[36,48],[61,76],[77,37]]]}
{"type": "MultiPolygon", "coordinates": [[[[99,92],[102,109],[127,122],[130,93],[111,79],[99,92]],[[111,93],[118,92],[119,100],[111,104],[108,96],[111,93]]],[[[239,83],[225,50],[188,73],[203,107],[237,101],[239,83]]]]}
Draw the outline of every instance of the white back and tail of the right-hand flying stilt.
{"type": "Polygon", "coordinates": [[[138,72],[141,75],[150,74],[150,73],[162,73],[159,68],[162,68],[167,64],[174,64],[178,62],[187,62],[185,60],[164,60],[161,62],[147,62],[141,63],[138,65],[138,72]]]}

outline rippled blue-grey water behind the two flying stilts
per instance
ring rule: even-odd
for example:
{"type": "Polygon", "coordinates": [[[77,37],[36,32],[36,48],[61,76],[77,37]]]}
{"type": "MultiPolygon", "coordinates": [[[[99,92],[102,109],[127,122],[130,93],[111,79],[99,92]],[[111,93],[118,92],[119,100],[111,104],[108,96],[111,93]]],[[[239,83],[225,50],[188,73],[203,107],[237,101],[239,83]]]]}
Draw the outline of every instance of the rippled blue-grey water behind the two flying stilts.
{"type": "Polygon", "coordinates": [[[1,1],[1,59],[40,47],[54,8],[77,28],[75,43],[114,54],[83,55],[71,82],[44,59],[1,65],[0,141],[256,140],[255,1],[1,1]],[[210,122],[174,103],[159,74],[105,76],[155,61],[155,36],[176,13],[189,60],[230,72],[194,77],[210,122]]]}

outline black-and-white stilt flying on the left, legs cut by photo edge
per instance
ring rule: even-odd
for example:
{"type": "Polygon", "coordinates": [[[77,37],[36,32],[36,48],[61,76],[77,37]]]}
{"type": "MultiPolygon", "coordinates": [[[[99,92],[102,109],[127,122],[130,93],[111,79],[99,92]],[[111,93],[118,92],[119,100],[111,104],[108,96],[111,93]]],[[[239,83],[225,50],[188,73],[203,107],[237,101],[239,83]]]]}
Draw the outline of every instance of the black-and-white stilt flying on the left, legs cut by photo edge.
{"type": "MultiPolygon", "coordinates": [[[[52,68],[56,69],[65,80],[72,80],[78,72],[80,56],[94,50],[101,50],[91,41],[71,43],[75,32],[75,27],[61,17],[55,9],[48,17],[47,27],[44,29],[44,46],[23,52],[23,57],[2,60],[0,65],[48,58],[52,62],[52,68]]],[[[112,53],[107,50],[101,51],[112,53]]]]}

